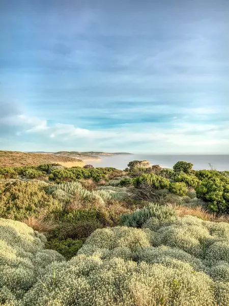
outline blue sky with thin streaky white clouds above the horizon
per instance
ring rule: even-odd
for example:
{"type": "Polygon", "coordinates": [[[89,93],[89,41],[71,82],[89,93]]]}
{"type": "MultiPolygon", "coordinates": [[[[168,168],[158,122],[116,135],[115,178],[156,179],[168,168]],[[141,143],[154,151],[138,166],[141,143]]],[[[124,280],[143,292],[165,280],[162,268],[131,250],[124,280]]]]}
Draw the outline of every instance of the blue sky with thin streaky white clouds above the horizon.
{"type": "Polygon", "coordinates": [[[229,154],[228,0],[2,0],[0,29],[0,149],[229,154]]]}

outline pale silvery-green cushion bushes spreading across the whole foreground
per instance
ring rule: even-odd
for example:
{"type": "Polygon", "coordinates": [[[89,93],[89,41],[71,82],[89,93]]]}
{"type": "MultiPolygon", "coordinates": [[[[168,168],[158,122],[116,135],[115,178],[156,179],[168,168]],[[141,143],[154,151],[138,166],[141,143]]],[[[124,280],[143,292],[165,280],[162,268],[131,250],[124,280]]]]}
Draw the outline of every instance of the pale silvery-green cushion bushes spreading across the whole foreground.
{"type": "Polygon", "coordinates": [[[228,306],[228,232],[227,223],[190,216],[161,219],[153,230],[103,228],[78,251],[76,241],[54,241],[63,252],[67,245],[77,252],[66,261],[44,249],[43,235],[0,219],[0,301],[10,306],[228,306]]]}

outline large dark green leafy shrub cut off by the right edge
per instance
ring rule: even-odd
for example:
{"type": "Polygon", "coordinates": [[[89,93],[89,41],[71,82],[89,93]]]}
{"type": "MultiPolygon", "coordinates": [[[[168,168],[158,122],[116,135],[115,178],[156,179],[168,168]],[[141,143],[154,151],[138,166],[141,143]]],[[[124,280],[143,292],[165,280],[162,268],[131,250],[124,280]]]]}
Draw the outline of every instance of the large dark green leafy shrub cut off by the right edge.
{"type": "Polygon", "coordinates": [[[229,179],[223,176],[210,176],[196,187],[196,197],[208,203],[217,213],[229,213],[229,179]]]}

